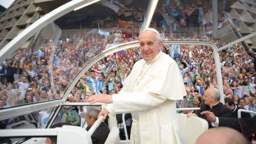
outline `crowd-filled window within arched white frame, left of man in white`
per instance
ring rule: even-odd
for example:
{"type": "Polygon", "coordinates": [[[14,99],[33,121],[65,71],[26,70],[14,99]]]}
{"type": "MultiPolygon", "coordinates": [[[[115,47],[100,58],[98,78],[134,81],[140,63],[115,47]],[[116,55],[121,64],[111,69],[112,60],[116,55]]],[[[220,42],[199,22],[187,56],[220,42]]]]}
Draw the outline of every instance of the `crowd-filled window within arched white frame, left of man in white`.
{"type": "Polygon", "coordinates": [[[139,59],[141,59],[139,47],[106,56],[85,72],[72,89],[68,100],[70,102],[83,102],[83,99],[95,93],[118,93],[134,63],[139,59]],[[77,99],[77,93],[81,95],[81,99],[77,99]]]}

